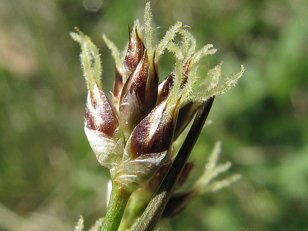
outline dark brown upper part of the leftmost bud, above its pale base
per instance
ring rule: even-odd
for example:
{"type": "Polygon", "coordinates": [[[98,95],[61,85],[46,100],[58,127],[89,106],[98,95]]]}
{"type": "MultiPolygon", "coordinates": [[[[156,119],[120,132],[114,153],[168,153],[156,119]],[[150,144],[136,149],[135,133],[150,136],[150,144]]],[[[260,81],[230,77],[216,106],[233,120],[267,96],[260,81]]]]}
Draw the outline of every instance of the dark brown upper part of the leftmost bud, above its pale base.
{"type": "Polygon", "coordinates": [[[112,137],[119,126],[114,110],[104,92],[94,83],[92,90],[88,91],[85,105],[86,127],[97,130],[112,137]]]}

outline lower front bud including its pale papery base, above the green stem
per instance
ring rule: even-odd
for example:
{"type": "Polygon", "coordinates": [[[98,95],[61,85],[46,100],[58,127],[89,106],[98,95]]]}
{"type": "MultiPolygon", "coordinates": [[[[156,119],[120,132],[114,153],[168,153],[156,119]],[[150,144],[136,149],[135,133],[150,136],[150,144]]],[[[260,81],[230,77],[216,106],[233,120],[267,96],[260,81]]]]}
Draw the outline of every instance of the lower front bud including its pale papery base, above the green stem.
{"type": "Polygon", "coordinates": [[[156,106],[127,141],[115,179],[129,191],[143,187],[170,155],[180,99],[171,105],[169,99],[156,106]]]}

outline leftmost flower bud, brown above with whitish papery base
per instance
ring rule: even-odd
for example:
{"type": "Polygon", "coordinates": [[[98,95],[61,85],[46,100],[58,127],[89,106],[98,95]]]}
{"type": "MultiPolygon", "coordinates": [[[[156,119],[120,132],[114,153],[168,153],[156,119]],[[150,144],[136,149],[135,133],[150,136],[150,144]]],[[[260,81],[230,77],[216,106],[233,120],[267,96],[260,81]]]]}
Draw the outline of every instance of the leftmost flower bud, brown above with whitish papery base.
{"type": "Polygon", "coordinates": [[[87,95],[84,132],[101,165],[113,168],[121,161],[123,139],[119,132],[119,122],[96,81],[87,95]]]}

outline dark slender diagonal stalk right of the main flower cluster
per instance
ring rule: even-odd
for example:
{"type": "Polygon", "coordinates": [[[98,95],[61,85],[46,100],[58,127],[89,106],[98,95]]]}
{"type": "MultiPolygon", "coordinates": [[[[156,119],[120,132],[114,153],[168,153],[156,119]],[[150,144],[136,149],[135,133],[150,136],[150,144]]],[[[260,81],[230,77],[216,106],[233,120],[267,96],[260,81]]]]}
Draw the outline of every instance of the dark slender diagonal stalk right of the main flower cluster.
{"type": "Polygon", "coordinates": [[[215,96],[204,102],[197,112],[195,120],[186,139],[176,155],[173,164],[161,182],[147,209],[135,224],[133,231],[153,231],[166,204],[174,190],[185,163],[200,135],[203,125],[209,115],[215,96]]]}

